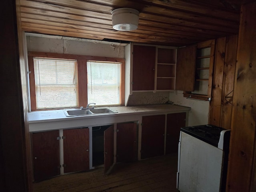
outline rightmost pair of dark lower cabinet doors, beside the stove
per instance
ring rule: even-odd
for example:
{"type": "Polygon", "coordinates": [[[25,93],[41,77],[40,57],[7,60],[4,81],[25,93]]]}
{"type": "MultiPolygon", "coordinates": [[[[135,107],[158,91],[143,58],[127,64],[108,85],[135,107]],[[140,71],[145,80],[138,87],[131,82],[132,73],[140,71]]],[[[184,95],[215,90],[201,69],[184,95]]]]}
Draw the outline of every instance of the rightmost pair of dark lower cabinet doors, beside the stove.
{"type": "Polygon", "coordinates": [[[186,112],[142,116],[141,159],[178,152],[180,128],[188,125],[186,112]]]}

